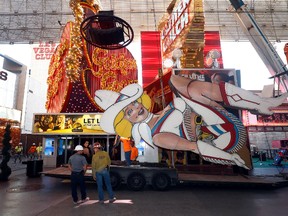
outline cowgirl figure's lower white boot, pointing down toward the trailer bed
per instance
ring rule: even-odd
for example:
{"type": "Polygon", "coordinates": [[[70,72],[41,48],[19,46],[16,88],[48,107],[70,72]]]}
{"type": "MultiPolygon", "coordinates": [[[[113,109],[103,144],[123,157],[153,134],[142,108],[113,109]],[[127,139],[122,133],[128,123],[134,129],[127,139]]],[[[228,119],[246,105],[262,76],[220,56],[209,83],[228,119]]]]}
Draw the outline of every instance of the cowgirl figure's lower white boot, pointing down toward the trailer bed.
{"type": "Polygon", "coordinates": [[[245,161],[237,153],[230,154],[201,140],[197,141],[197,147],[202,158],[206,161],[223,165],[237,165],[249,170],[245,161]]]}

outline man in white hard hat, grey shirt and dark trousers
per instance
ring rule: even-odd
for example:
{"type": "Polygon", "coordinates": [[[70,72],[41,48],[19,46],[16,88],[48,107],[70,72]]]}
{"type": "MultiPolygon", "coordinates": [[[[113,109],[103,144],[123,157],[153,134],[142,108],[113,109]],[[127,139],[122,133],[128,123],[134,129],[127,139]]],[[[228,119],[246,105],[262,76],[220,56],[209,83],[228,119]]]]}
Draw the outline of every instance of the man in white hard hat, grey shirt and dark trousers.
{"type": "Polygon", "coordinates": [[[68,168],[71,170],[71,192],[74,204],[80,204],[89,200],[86,195],[84,175],[87,169],[87,161],[83,154],[83,147],[77,145],[76,153],[68,160],[68,168]],[[80,186],[81,200],[78,200],[77,187],[80,186]]]}

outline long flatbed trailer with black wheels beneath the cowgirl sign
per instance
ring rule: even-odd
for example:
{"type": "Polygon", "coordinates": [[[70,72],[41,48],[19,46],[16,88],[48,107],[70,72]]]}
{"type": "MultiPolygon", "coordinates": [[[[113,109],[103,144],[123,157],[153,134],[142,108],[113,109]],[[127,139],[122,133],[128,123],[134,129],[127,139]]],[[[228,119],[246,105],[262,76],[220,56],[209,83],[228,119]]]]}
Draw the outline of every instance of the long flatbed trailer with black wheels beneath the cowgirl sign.
{"type": "MultiPolygon", "coordinates": [[[[42,174],[50,177],[70,179],[71,171],[67,166],[46,170],[42,174]]],[[[118,166],[111,165],[111,184],[116,190],[121,184],[126,184],[128,189],[141,191],[146,185],[151,185],[155,190],[168,190],[170,186],[190,184],[196,186],[235,186],[235,187],[264,187],[278,188],[288,185],[287,172],[277,176],[237,175],[237,174],[207,174],[178,171],[166,167],[145,166],[118,166]]],[[[91,167],[85,174],[87,181],[93,181],[91,167]]]]}

